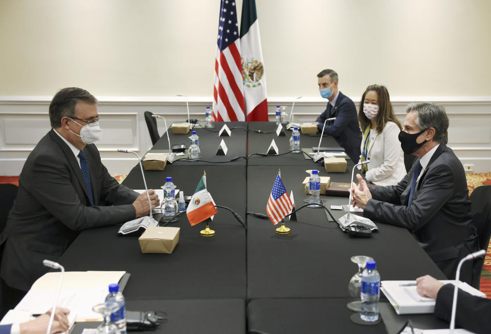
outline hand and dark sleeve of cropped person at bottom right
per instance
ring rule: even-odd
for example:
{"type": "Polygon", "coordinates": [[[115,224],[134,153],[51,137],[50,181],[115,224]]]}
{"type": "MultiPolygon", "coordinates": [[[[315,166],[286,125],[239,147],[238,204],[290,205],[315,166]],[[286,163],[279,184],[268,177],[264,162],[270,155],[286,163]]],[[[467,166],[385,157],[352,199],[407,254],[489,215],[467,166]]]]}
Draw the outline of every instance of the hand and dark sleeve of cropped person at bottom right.
{"type": "MultiPolygon", "coordinates": [[[[416,290],[423,297],[436,299],[434,314],[450,322],[454,300],[453,284],[443,284],[426,275],[416,279],[416,290]]],[[[476,333],[489,333],[491,329],[491,300],[458,290],[455,323],[476,333]]]]}

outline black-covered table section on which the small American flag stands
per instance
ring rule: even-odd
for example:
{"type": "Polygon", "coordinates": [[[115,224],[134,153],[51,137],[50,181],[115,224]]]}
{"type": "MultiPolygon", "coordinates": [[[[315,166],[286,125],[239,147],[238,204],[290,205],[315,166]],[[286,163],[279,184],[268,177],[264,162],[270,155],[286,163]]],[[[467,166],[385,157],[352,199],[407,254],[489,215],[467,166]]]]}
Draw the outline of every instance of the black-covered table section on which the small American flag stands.
{"type": "MultiPolygon", "coordinates": [[[[265,213],[278,169],[248,167],[248,211],[265,213]]],[[[336,181],[349,182],[348,173],[326,173],[336,181]]],[[[296,207],[303,205],[302,166],[281,167],[288,193],[294,191],[296,207]]],[[[346,197],[321,196],[324,205],[347,204],[346,197]]],[[[334,218],[344,212],[331,210],[334,218]]],[[[275,233],[272,221],[248,216],[248,298],[348,297],[348,282],[356,272],[354,255],[377,261],[382,280],[415,279],[426,274],[445,277],[413,236],[398,227],[377,223],[379,232],[370,238],[351,238],[328,221],[322,208],[304,208],[298,221],[286,221],[287,235],[275,233]],[[390,250],[390,252],[387,252],[390,250]],[[411,256],[408,256],[408,253],[411,256]]]]}

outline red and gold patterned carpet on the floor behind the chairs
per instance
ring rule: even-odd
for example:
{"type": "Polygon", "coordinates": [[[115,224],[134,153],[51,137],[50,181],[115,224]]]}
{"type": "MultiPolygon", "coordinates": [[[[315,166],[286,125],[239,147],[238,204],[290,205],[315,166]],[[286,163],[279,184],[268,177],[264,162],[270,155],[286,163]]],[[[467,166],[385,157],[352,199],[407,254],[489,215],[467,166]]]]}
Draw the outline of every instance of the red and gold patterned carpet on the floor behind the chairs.
{"type": "MultiPolygon", "coordinates": [[[[113,176],[119,183],[123,182],[126,177],[126,175],[113,176]]],[[[491,185],[491,173],[466,174],[466,177],[467,187],[469,188],[469,195],[474,189],[481,185],[491,185]]],[[[0,176],[0,183],[13,183],[18,186],[19,177],[0,176]]],[[[486,294],[487,298],[491,299],[491,247],[487,248],[486,258],[484,260],[484,266],[482,269],[480,290],[486,294]]]]}

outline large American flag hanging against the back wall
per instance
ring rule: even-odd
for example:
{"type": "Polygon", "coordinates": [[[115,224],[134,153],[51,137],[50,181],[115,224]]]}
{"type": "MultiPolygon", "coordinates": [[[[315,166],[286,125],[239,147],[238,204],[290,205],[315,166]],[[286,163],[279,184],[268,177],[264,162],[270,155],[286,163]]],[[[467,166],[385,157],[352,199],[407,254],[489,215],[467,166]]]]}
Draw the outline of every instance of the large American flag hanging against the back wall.
{"type": "Polygon", "coordinates": [[[232,0],[221,0],[214,84],[215,119],[245,121],[239,25],[235,1],[232,0]]]}

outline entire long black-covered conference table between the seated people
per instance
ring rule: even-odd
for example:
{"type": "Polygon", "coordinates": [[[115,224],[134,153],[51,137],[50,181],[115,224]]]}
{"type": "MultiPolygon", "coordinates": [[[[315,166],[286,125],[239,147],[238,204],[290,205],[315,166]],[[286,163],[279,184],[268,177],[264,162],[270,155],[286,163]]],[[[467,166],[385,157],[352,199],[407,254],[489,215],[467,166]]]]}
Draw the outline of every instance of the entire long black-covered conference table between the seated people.
{"type": "MultiPolygon", "coordinates": [[[[275,128],[273,122],[250,122],[248,126],[264,131],[275,128]]],[[[351,256],[372,256],[382,280],[414,279],[426,274],[444,278],[406,229],[377,224],[379,232],[372,237],[350,238],[327,218],[324,209],[304,208],[297,213],[297,221],[286,221],[292,233],[278,235],[274,231],[277,226],[269,219],[246,217],[246,211],[266,212],[267,198],[279,168],[288,193],[293,190],[298,208],[304,204],[301,182],[308,175],[306,169],[319,169],[321,176],[331,176],[331,182],[349,182],[353,163],[348,161],[345,173],[327,173],[323,165],[305,159],[301,153],[277,157],[253,155],[248,161],[221,163],[232,157],[231,152],[233,155],[263,152],[262,147],[269,145],[272,138],[286,151],[291,136],[291,131],[287,131],[286,137],[242,129],[232,131],[231,138],[225,137],[230,142],[226,158],[215,156],[214,151],[210,153],[212,148],[216,150],[212,146],[218,146],[221,138],[213,138],[212,132],[200,132],[202,156],[213,163],[177,161],[168,164],[165,171],[145,171],[145,176],[149,188],[159,188],[165,183],[165,176],[172,176],[177,188],[190,195],[206,170],[207,188],[215,203],[230,207],[247,219],[247,231],[230,212],[220,208],[211,224],[216,236],[211,238],[199,236],[203,223],[190,227],[186,216],[181,216],[180,221],[170,225],[181,228],[173,254],[142,254],[137,237],[118,236],[117,226],[89,229],[82,231],[59,259],[66,270],[129,272],[131,277],[124,291],[128,309],[165,310],[169,322],[159,332],[177,333],[243,333],[246,328],[270,334],[326,330],[384,333],[384,323],[361,326],[348,319],[352,313],[346,308],[347,285],[357,270],[351,256]]],[[[172,136],[171,143],[187,143],[189,135],[182,136],[172,136]]],[[[301,136],[301,147],[318,143],[318,136],[301,136]]],[[[326,136],[321,146],[337,144],[326,136]]],[[[164,135],[152,150],[166,148],[164,135]]],[[[132,189],[143,188],[138,165],[124,184],[132,189]]],[[[321,199],[327,207],[347,204],[346,197],[321,199]]],[[[336,219],[344,214],[331,212],[336,219]]],[[[382,295],[381,301],[384,300],[382,295]]],[[[435,323],[432,315],[418,319],[421,327],[444,327],[435,323]]]]}

